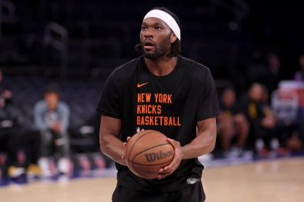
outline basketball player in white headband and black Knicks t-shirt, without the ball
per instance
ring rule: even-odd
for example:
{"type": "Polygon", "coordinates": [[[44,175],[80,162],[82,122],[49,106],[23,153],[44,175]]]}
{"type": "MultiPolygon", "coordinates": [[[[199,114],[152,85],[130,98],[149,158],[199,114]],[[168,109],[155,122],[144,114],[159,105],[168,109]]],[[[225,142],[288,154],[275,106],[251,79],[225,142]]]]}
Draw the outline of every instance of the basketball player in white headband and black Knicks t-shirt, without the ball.
{"type": "Polygon", "coordinates": [[[179,24],[168,9],[149,11],[136,45],[143,56],[116,68],[104,86],[97,111],[100,148],[118,169],[112,201],[205,201],[197,157],[215,147],[217,92],[210,69],[179,55],[179,24]],[[124,142],[142,129],[165,134],[175,150],[158,179],[126,167],[124,142]]]}

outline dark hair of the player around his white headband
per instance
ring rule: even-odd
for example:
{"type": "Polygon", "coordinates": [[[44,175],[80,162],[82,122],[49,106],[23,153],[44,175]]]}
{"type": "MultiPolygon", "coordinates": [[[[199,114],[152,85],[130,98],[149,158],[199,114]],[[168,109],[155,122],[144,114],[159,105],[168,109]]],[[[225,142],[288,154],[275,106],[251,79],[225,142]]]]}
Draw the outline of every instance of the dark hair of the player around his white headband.
{"type": "MultiPolygon", "coordinates": [[[[152,10],[160,10],[160,11],[164,11],[165,13],[168,13],[170,16],[173,17],[173,19],[176,21],[176,23],[178,23],[178,27],[180,28],[180,20],[178,19],[178,16],[176,16],[175,13],[173,13],[169,9],[166,9],[165,7],[156,7],[154,9],[151,9],[151,11],[152,10]]],[[[180,28],[180,30],[181,30],[181,28],[180,28]]],[[[141,44],[138,44],[135,46],[135,50],[138,52],[142,52],[143,47],[141,47],[141,44]]],[[[178,54],[180,54],[180,52],[182,52],[181,46],[180,46],[180,40],[177,38],[175,40],[175,42],[172,43],[171,52],[167,56],[175,57],[175,56],[178,56],[178,54]]]]}

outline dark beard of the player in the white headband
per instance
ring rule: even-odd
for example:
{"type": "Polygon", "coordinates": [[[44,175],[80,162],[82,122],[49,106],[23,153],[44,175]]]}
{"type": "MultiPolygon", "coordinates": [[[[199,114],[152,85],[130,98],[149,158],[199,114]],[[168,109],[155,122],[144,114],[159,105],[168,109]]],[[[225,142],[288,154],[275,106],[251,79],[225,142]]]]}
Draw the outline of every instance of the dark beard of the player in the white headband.
{"type": "Polygon", "coordinates": [[[158,45],[154,44],[154,51],[147,51],[144,48],[143,41],[141,40],[141,47],[143,50],[143,56],[148,59],[156,60],[168,54],[168,50],[170,49],[170,35],[167,38],[163,39],[158,45]]]}

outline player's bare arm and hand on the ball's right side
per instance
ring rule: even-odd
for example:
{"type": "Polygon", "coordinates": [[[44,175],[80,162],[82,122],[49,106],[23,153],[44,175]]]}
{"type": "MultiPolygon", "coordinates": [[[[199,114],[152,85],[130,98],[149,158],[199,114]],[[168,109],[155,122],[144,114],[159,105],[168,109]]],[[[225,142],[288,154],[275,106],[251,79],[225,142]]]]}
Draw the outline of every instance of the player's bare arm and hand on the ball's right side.
{"type": "Polygon", "coordinates": [[[174,147],[174,158],[168,167],[160,169],[158,179],[172,174],[175,169],[178,169],[182,159],[192,159],[212,152],[217,138],[216,118],[198,121],[197,129],[197,137],[183,147],[180,147],[180,142],[168,139],[174,147]]]}

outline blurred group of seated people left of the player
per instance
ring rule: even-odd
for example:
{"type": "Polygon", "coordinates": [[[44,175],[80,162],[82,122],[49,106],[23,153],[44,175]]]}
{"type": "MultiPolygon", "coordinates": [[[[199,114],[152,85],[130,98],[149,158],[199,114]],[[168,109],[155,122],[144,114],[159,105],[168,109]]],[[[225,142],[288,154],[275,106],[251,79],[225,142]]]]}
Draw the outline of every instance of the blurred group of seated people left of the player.
{"type": "MultiPolygon", "coordinates": [[[[91,126],[82,123],[82,128],[73,131],[76,128],[70,128],[70,106],[61,99],[58,83],[46,86],[42,99],[29,107],[33,110],[33,120],[26,121],[24,119],[28,117],[17,109],[20,106],[14,100],[16,95],[2,85],[3,79],[4,74],[0,69],[0,185],[1,179],[24,181],[28,176],[31,179],[64,180],[72,177],[74,169],[87,171],[92,167],[106,167],[103,155],[92,154],[99,150],[96,135],[90,137],[94,142],[86,150],[89,154],[73,156],[79,148],[70,149],[71,137],[81,136],[78,137],[80,143],[74,145],[87,146],[82,136],[98,133],[98,126],[92,128],[92,125],[97,125],[94,123],[97,117],[92,115],[91,126]],[[33,125],[28,124],[31,122],[33,125]]],[[[29,98],[25,96],[23,99],[29,98]]]]}

